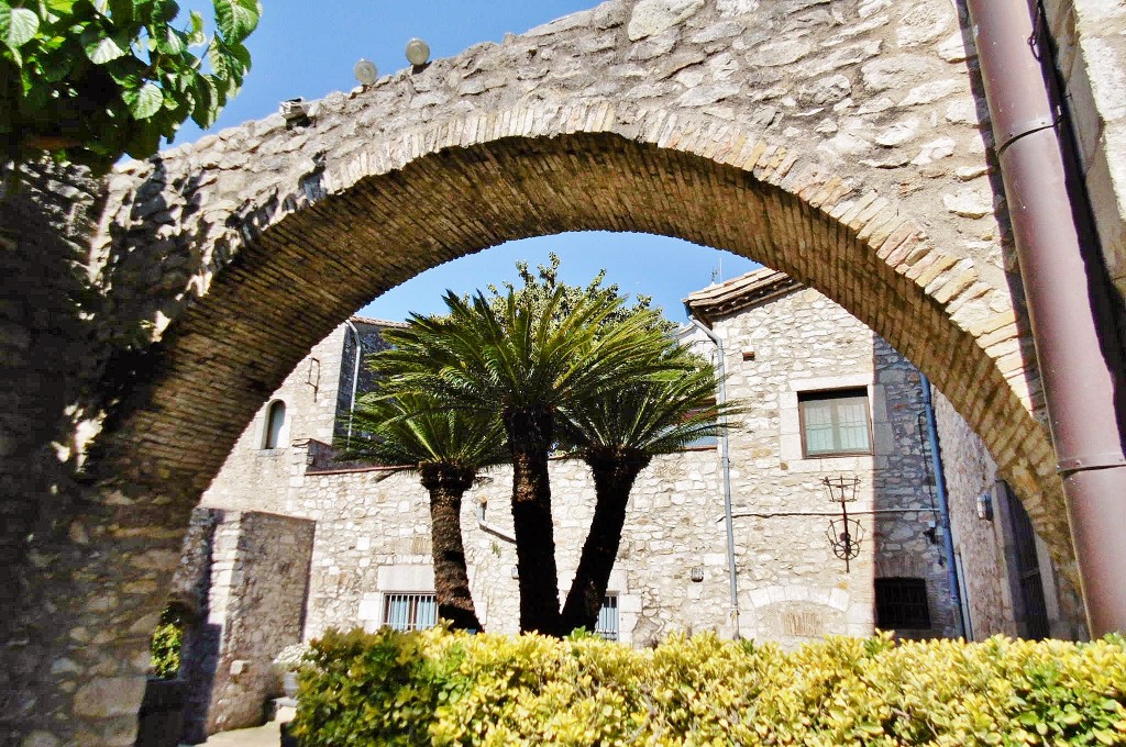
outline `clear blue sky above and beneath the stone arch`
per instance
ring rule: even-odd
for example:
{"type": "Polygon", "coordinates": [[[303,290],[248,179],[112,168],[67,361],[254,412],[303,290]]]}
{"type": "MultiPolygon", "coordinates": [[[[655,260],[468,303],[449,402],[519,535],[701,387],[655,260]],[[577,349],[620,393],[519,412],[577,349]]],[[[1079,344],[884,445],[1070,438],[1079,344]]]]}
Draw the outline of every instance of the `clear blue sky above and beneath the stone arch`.
{"type": "MultiPolygon", "coordinates": [[[[381,75],[401,70],[408,65],[403,47],[412,37],[430,45],[432,58],[453,56],[480,42],[500,42],[508,33],[521,34],[597,4],[596,0],[262,0],[261,22],[247,42],[253,68],[211,132],[269,116],[285,99],[312,100],[349,90],[357,84],[352,66],[360,57],[374,62],[381,75]]],[[[181,7],[200,10],[214,28],[209,2],[189,0],[181,7]]],[[[189,122],[177,142],[200,135],[189,122]]],[[[676,238],[571,233],[510,242],[434,268],[384,294],[361,313],[402,320],[411,310],[440,310],[446,288],[465,294],[489,282],[513,280],[516,260],[535,267],[547,262],[549,251],[562,258],[565,281],[586,284],[606,268],[608,282],[617,282],[628,294],[653,296],[654,304],[677,322],[685,318],[680,299],[708,285],[714,271],[722,267],[721,277],[726,279],[757,267],[729,252],[676,238]]]]}

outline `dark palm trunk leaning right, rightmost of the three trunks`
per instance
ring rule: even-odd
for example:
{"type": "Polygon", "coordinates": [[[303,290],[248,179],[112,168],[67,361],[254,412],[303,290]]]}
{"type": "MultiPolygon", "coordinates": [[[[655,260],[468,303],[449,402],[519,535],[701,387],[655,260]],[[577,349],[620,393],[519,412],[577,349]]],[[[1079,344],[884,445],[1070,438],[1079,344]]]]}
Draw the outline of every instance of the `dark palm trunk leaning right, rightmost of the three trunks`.
{"type": "Polygon", "coordinates": [[[595,630],[598,612],[606,597],[606,585],[610,580],[610,572],[622,542],[629,492],[637,475],[649,462],[650,457],[637,453],[587,457],[595,477],[595,516],[582,546],[579,569],[563,606],[564,633],[578,628],[595,630]]]}

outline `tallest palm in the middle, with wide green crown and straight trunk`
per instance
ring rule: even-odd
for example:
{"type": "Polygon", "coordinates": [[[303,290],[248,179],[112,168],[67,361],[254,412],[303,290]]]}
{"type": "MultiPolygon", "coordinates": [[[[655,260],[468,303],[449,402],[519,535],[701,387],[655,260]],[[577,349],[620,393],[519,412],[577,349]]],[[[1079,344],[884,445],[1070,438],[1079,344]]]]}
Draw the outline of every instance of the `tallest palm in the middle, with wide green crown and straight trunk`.
{"type": "Polygon", "coordinates": [[[413,315],[388,330],[392,349],[373,358],[399,390],[428,393],[453,408],[497,416],[512,462],[512,523],[520,568],[520,629],[562,634],[558,575],[547,458],[555,416],[580,399],[596,398],[624,379],[667,368],[654,351],[665,342],[655,313],[638,313],[606,327],[617,296],[580,299],[556,314],[563,289],[546,303],[503,304],[482,294],[445,296],[446,316],[413,315]]]}

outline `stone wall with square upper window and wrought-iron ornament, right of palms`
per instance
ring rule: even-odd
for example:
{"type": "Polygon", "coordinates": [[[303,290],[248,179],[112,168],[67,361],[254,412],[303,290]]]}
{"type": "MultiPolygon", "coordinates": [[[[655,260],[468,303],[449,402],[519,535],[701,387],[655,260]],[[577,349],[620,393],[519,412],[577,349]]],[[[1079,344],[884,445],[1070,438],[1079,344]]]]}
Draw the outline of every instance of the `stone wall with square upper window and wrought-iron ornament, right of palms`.
{"type": "Polygon", "coordinates": [[[923,534],[937,516],[917,429],[922,412],[918,371],[811,289],[721,318],[715,330],[725,341],[727,394],[750,403],[731,450],[734,510],[745,514],[736,529],[747,538],[741,540],[751,578],[745,586],[757,629],[778,634],[797,624],[814,636],[868,632],[875,624],[874,579],[910,576],[927,582],[932,630],[902,632],[953,634],[940,547],[923,534]],[[798,394],[843,387],[868,393],[874,454],[803,458],[798,394]],[[828,514],[839,506],[829,502],[820,483],[839,476],[860,478],[858,501],[849,508],[866,532],[848,574],[825,538],[828,514]],[[858,513],[870,511],[896,513],[858,513]],[[826,515],[751,515],[781,512],[826,515]],[[790,588],[806,588],[811,597],[830,592],[848,604],[835,612],[804,601],[794,604],[790,588]]]}

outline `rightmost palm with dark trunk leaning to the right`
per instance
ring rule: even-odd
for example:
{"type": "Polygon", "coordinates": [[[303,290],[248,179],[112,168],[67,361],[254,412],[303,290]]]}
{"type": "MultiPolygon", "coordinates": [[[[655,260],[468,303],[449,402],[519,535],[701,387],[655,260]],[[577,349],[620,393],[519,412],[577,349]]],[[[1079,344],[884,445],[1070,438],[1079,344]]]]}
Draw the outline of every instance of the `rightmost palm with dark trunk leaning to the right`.
{"type": "Polygon", "coordinates": [[[617,390],[580,400],[565,412],[564,440],[590,467],[596,502],[563,606],[564,631],[595,629],[637,475],[654,456],[720,433],[720,416],[736,412],[716,404],[711,364],[671,341],[665,357],[669,363],[677,361],[679,370],[626,380],[617,390]]]}

